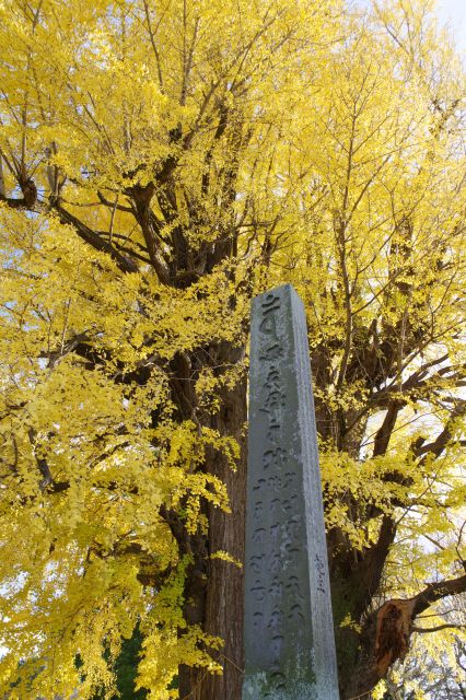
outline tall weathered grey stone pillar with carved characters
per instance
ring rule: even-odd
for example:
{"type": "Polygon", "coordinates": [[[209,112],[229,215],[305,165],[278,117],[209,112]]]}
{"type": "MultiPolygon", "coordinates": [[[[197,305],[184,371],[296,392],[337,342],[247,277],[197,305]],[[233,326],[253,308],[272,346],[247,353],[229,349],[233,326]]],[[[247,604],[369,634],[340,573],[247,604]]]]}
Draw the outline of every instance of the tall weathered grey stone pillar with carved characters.
{"type": "Polygon", "coordinates": [[[338,700],[306,320],[253,303],[243,700],[338,700]]]}

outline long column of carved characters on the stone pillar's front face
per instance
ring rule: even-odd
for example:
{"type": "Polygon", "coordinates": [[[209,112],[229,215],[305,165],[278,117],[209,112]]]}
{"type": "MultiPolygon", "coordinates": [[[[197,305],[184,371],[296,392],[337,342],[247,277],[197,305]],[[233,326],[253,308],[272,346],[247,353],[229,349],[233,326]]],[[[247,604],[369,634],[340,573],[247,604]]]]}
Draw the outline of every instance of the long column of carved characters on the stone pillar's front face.
{"type": "Polygon", "coordinates": [[[303,527],[298,509],[299,479],[290,445],[283,444],[283,421],[288,416],[282,363],[287,359],[287,343],[281,331],[281,313],[280,296],[267,294],[261,301],[259,323],[259,360],[264,378],[258,410],[264,415],[265,423],[260,468],[253,483],[252,541],[255,548],[248,561],[254,574],[249,588],[254,600],[253,626],[263,634],[263,643],[271,653],[277,689],[286,681],[281,658],[286,628],[305,620],[305,599],[296,575],[300,556],[296,540],[303,527]]]}

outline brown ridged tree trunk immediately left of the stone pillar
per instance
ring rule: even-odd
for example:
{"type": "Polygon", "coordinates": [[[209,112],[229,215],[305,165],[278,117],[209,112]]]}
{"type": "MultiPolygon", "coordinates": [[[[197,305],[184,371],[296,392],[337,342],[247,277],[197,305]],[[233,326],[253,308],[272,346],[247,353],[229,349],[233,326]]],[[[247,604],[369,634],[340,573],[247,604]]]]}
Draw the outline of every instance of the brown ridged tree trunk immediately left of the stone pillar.
{"type": "MultiPolygon", "coordinates": [[[[226,346],[209,349],[215,365],[233,364],[241,359],[241,349],[226,346]]],[[[224,397],[218,413],[203,416],[220,434],[237,440],[241,455],[236,470],[225,457],[212,451],[205,465],[209,474],[225,483],[230,497],[231,513],[218,508],[207,510],[209,535],[205,539],[207,557],[225,551],[235,560],[244,560],[244,525],[246,504],[246,445],[245,422],[247,418],[246,377],[224,397]]],[[[220,637],[224,644],[213,652],[213,657],[223,667],[221,675],[206,669],[179,669],[179,698],[183,700],[240,700],[243,680],[243,571],[234,563],[219,558],[205,559],[199,556],[189,569],[185,587],[185,617],[188,623],[202,621],[205,632],[220,637]],[[202,618],[200,620],[200,618],[202,618]]]]}

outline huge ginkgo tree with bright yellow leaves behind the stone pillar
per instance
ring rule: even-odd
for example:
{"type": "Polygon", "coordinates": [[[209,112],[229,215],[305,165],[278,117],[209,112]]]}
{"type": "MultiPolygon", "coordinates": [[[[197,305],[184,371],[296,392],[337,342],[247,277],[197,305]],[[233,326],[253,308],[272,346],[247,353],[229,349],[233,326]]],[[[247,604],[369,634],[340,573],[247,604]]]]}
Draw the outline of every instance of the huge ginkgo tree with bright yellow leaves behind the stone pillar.
{"type": "Polygon", "coordinates": [[[138,630],[148,697],[240,700],[249,302],[283,282],[341,697],[466,590],[464,75],[431,11],[0,7],[3,695],[110,698],[138,630]]]}

